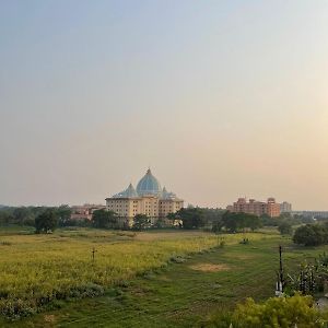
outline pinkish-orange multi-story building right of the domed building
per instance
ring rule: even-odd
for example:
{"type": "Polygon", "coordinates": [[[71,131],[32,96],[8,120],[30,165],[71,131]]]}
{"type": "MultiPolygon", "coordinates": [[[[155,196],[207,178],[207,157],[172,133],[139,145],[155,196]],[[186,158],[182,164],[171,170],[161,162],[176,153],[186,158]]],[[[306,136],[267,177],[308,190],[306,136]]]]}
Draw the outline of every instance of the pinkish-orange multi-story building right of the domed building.
{"type": "Polygon", "coordinates": [[[267,214],[270,218],[277,218],[280,215],[280,204],[276,202],[274,198],[268,198],[268,201],[256,201],[255,199],[246,200],[246,198],[238,198],[232,206],[227,206],[226,209],[231,212],[243,212],[254,215],[267,214]]]}

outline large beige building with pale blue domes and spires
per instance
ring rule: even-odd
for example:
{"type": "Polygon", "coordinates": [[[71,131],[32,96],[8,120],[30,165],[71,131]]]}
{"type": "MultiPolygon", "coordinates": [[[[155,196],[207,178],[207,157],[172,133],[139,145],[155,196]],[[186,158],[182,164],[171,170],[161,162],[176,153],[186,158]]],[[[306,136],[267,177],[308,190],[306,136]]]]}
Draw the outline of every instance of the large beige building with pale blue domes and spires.
{"type": "Polygon", "coordinates": [[[173,192],[162,189],[159,180],[148,169],[137,185],[132,184],[119,194],[106,198],[108,210],[118,214],[120,225],[131,226],[137,214],[145,214],[154,224],[159,218],[165,219],[168,213],[175,213],[184,207],[184,200],[173,192]]]}

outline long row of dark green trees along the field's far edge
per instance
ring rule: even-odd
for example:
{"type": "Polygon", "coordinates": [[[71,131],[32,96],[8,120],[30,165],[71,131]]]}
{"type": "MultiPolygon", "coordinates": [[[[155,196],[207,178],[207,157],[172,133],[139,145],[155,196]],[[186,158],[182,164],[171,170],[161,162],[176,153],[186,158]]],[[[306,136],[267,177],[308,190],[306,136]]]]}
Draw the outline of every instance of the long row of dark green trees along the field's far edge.
{"type": "Polygon", "coordinates": [[[37,233],[46,233],[63,226],[90,226],[97,229],[132,229],[142,231],[147,229],[178,227],[185,230],[203,229],[214,233],[236,233],[255,231],[261,226],[277,226],[281,234],[292,235],[292,225],[306,223],[298,227],[293,236],[296,244],[316,246],[328,244],[328,223],[316,223],[308,218],[292,216],[283,213],[279,218],[267,215],[256,216],[247,213],[233,213],[222,209],[208,209],[199,207],[183,208],[166,218],[160,218],[151,224],[150,218],[137,214],[132,226],[128,223],[119,224],[120,218],[113,211],[96,210],[92,220],[71,220],[69,206],[60,207],[1,207],[0,225],[17,224],[34,226],[37,233]]]}

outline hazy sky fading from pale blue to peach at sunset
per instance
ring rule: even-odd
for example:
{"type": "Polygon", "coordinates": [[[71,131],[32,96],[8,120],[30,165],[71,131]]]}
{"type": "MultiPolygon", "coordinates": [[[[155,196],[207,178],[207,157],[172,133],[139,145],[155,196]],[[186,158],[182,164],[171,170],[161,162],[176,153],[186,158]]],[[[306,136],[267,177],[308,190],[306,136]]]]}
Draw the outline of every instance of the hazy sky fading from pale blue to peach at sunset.
{"type": "Polygon", "coordinates": [[[0,0],[0,203],[328,210],[328,1],[0,0]]]}

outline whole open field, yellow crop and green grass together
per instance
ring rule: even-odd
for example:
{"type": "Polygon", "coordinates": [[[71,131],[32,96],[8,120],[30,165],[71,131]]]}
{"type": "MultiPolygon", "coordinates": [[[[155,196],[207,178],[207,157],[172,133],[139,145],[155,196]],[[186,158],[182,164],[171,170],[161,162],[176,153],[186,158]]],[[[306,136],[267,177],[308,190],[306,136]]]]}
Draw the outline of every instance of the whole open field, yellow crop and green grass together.
{"type": "Polygon", "coordinates": [[[54,296],[54,291],[90,282],[106,286],[103,296],[50,302],[40,314],[14,323],[1,319],[0,324],[2,327],[199,326],[207,316],[232,308],[247,296],[263,300],[273,295],[279,244],[284,245],[284,263],[290,269],[324,250],[324,247],[294,247],[289,238],[272,231],[247,237],[250,244],[242,245],[238,243],[242,234],[225,235],[226,245],[220,248],[215,247],[216,236],[201,232],[152,232],[134,236],[77,230],[50,236],[0,236],[0,242],[4,242],[0,246],[3,254],[0,270],[7,278],[1,279],[1,291],[7,288],[24,297],[31,288],[38,288],[54,296]],[[94,263],[93,247],[97,250],[94,263]]]}

